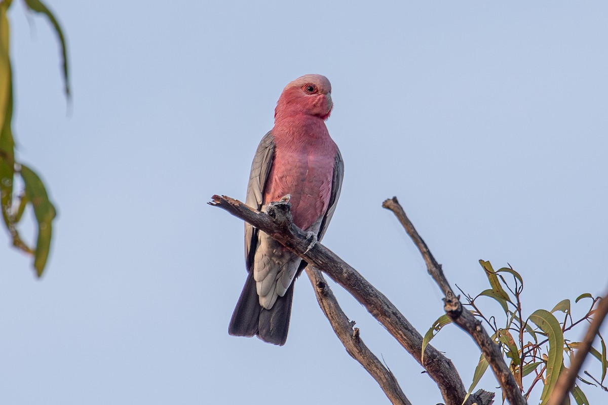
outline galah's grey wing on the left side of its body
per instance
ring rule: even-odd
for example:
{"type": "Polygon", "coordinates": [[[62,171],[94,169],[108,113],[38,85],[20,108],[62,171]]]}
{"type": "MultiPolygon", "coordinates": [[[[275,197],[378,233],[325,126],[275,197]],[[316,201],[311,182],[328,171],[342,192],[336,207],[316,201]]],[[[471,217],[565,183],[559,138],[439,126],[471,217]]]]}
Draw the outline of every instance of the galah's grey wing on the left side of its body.
{"type": "MultiPolygon", "coordinates": [[[[260,209],[263,202],[264,186],[274,160],[274,137],[271,131],[264,135],[255,151],[254,162],[251,163],[249,183],[245,203],[252,208],[260,209]]],[[[257,243],[257,228],[245,222],[245,262],[247,271],[252,271],[257,243]]]]}

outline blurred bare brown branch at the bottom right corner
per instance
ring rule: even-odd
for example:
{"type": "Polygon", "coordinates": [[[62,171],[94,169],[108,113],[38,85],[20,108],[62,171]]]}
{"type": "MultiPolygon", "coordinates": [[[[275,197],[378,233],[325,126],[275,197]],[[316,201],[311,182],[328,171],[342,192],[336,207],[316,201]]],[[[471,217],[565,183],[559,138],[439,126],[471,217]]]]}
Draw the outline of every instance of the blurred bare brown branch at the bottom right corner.
{"type": "Polygon", "coordinates": [[[551,393],[551,398],[549,400],[550,405],[561,405],[564,403],[566,398],[568,397],[568,393],[574,387],[574,381],[579,371],[581,371],[582,363],[584,362],[587,354],[589,354],[589,350],[591,350],[591,345],[593,344],[593,339],[599,332],[599,327],[601,327],[602,322],[606,319],[606,314],[608,313],[608,291],[604,294],[604,298],[600,299],[598,302],[598,307],[593,314],[593,321],[587,328],[587,333],[585,333],[585,338],[581,342],[581,346],[578,350],[576,350],[576,355],[572,360],[572,364],[570,364],[570,369],[564,369],[564,372],[559,376],[558,382],[551,393]]]}

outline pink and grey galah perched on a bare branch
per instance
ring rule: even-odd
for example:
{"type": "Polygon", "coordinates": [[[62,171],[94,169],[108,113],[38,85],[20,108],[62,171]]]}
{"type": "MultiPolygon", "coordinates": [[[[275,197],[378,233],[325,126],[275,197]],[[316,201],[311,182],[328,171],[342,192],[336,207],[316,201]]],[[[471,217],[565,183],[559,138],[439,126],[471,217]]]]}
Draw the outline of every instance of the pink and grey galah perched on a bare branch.
{"type": "MultiPolygon", "coordinates": [[[[331,84],[322,75],[289,83],[278,98],[274,127],[251,165],[246,204],[263,211],[289,195],[295,225],[321,240],[336,209],[344,163],[325,126],[331,84]]],[[[283,345],[287,339],[295,277],[306,262],[268,234],[245,223],[247,280],[230,320],[233,336],[283,345]]]]}

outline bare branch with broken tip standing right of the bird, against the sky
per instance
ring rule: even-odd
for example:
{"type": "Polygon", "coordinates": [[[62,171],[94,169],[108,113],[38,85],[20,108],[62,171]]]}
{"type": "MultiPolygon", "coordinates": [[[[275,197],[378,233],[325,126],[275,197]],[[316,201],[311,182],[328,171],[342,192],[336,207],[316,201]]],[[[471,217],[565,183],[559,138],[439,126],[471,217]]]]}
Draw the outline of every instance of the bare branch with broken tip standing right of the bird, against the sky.
{"type": "Polygon", "coordinates": [[[490,367],[492,367],[492,371],[494,372],[494,375],[496,375],[496,379],[498,379],[506,399],[511,405],[525,405],[526,400],[523,398],[513,374],[506,366],[502,352],[500,351],[500,346],[489,338],[488,333],[486,333],[486,330],[482,327],[482,323],[475,318],[470,311],[462,307],[460,296],[454,294],[452,287],[450,287],[449,282],[447,282],[446,276],[443,274],[441,265],[437,263],[435,257],[430,253],[429,248],[418,234],[418,231],[416,231],[416,228],[414,228],[412,222],[406,216],[406,213],[399,204],[397,198],[393,197],[392,199],[385,200],[385,202],[382,203],[382,206],[393,211],[395,216],[399,219],[399,222],[401,222],[401,225],[405,228],[407,234],[412,238],[418,250],[420,250],[430,276],[433,277],[441,288],[441,291],[443,291],[445,296],[443,299],[444,310],[452,321],[471,335],[471,338],[473,338],[479,348],[482,349],[482,353],[488,360],[490,367]]]}

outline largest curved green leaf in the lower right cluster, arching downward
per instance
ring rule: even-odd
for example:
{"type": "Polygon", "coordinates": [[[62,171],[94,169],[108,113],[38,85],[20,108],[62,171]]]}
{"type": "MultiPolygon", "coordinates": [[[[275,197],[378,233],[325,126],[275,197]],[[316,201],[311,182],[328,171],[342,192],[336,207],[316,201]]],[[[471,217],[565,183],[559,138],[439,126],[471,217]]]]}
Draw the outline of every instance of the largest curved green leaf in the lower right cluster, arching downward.
{"type": "Polygon", "coordinates": [[[559,372],[564,364],[564,334],[559,322],[546,310],[537,310],[530,315],[530,321],[534,322],[549,339],[549,352],[547,355],[547,378],[542,389],[541,405],[547,404],[549,396],[555,384],[558,382],[559,372]]]}

